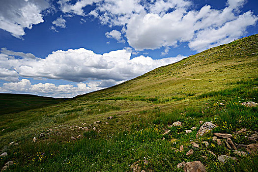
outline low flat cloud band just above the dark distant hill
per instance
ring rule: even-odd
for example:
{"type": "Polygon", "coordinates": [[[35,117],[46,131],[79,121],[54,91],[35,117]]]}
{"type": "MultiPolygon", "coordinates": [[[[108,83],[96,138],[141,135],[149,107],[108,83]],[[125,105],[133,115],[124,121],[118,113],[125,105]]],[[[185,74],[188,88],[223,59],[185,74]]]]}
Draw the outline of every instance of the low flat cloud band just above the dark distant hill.
{"type": "Polygon", "coordinates": [[[51,96],[56,98],[74,97],[79,94],[101,89],[98,87],[99,82],[78,83],[74,85],[59,85],[51,83],[39,83],[32,85],[28,79],[22,79],[19,82],[4,83],[0,87],[0,92],[8,93],[29,93],[43,96],[51,96]]]}

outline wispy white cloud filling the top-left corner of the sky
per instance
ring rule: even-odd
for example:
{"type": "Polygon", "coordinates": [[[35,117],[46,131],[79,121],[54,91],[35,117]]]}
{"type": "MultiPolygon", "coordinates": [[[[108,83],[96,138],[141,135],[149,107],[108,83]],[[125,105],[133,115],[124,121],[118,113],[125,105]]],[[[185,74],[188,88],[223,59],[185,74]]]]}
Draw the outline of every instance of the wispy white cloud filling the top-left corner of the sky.
{"type": "Polygon", "coordinates": [[[49,6],[47,0],[1,0],[0,29],[22,38],[25,28],[44,22],[42,12],[49,6]]]}

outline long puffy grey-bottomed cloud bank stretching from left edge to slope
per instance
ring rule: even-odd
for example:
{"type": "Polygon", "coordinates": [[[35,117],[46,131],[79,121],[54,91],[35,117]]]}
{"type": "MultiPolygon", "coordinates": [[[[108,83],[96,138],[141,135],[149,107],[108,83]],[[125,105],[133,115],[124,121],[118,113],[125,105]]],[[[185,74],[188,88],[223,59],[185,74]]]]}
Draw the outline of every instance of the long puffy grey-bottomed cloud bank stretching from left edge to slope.
{"type": "Polygon", "coordinates": [[[13,58],[0,54],[0,67],[16,71],[26,78],[64,79],[73,82],[132,79],[157,67],[176,62],[183,57],[152,59],[134,57],[127,50],[103,55],[84,48],[58,50],[46,58],[13,58]]]}

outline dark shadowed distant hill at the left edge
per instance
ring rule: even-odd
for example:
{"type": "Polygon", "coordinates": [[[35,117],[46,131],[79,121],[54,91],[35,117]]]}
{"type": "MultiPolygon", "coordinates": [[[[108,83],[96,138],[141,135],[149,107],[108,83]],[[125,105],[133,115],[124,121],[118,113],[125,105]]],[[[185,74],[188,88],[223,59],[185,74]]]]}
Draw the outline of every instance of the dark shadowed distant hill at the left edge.
{"type": "Polygon", "coordinates": [[[29,94],[0,93],[0,115],[16,113],[63,102],[64,99],[29,94]]]}

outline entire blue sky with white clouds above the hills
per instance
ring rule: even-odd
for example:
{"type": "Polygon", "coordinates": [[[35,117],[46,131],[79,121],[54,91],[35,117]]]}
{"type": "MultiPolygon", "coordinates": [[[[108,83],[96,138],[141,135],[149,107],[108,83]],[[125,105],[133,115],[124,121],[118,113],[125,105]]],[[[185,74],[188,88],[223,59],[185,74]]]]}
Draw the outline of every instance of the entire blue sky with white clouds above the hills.
{"type": "Polygon", "coordinates": [[[0,92],[120,84],[258,33],[258,0],[0,0],[0,92]]]}

